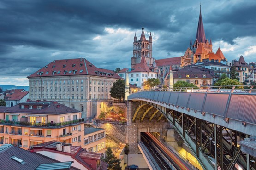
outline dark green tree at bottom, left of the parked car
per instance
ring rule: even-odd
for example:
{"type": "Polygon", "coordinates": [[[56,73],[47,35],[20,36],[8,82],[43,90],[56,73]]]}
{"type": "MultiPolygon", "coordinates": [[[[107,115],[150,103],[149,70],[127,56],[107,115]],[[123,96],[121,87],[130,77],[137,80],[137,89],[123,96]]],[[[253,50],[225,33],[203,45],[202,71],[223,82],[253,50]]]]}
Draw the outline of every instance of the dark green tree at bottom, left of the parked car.
{"type": "Polygon", "coordinates": [[[102,160],[107,162],[108,164],[107,170],[122,170],[122,167],[120,166],[120,160],[113,155],[113,152],[110,147],[107,148],[105,153],[106,153],[106,158],[102,160]]]}

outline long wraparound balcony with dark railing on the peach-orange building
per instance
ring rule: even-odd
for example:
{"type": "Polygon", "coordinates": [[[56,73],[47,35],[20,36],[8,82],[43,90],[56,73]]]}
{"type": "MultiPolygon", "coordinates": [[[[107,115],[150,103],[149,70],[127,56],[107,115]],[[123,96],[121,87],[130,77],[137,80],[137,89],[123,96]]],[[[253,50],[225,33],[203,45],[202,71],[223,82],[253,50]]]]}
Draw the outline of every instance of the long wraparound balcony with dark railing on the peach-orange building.
{"type": "MultiPolygon", "coordinates": [[[[47,122],[47,123],[34,123],[34,122],[19,122],[19,121],[10,121],[10,120],[0,120],[0,125],[18,125],[18,126],[39,126],[39,127],[45,127],[45,128],[58,128],[62,126],[68,126],[72,124],[80,124],[80,123],[85,123],[85,120],[82,119],[77,119],[77,120],[70,120],[66,122],[47,122]]],[[[8,133],[8,132],[5,132],[8,133]]]]}

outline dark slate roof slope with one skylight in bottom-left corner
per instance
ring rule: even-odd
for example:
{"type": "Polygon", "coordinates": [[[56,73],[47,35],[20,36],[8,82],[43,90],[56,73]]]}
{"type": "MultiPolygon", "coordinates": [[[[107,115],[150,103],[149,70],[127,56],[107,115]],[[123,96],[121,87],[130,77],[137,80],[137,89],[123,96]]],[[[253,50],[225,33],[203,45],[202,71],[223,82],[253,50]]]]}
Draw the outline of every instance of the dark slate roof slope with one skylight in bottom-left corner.
{"type": "MultiPolygon", "coordinates": [[[[55,159],[48,158],[38,153],[32,153],[11,144],[5,144],[0,149],[0,160],[3,170],[35,170],[40,164],[59,163],[55,159]],[[18,158],[16,161],[13,158],[18,158]]],[[[77,170],[71,167],[70,170],[77,170]]]]}

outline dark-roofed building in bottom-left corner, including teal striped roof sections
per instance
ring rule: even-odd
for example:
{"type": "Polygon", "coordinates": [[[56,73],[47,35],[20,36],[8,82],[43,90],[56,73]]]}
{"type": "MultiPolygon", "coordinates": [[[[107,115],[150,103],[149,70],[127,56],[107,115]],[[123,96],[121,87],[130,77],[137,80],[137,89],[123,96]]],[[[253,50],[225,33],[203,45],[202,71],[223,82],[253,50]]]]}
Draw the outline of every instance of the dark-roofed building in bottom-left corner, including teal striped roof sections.
{"type": "Polygon", "coordinates": [[[73,166],[72,161],[58,161],[11,144],[0,147],[0,159],[2,170],[45,170],[47,167],[54,170],[80,170],[73,166]]]}

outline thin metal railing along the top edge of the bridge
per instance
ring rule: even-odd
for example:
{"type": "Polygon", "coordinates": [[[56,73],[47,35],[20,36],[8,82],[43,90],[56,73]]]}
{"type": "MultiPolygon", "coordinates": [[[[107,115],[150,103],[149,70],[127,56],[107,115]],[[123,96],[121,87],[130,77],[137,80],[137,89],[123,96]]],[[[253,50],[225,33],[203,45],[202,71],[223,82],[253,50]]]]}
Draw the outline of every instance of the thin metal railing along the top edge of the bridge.
{"type": "MultiPolygon", "coordinates": [[[[226,85],[202,87],[155,88],[141,91],[179,91],[179,92],[215,92],[215,93],[256,93],[256,85],[226,85]]],[[[141,92],[137,91],[137,92],[141,92]]]]}

